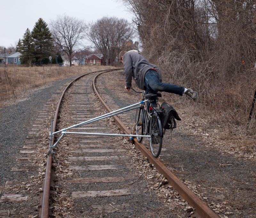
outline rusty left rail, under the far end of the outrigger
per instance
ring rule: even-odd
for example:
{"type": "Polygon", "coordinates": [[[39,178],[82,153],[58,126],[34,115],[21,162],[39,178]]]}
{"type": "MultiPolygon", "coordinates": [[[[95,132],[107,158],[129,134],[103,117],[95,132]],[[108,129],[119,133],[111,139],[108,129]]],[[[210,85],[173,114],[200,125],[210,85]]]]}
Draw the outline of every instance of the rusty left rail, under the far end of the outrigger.
{"type": "MultiPolygon", "coordinates": [[[[120,70],[123,68],[118,68],[118,69],[112,69],[112,70],[100,70],[100,71],[105,71],[105,72],[109,72],[109,71],[113,71],[113,70],[120,70]]],[[[96,73],[96,72],[100,72],[100,71],[95,71],[95,72],[90,72],[90,73],[86,73],[83,74],[81,76],[78,76],[77,78],[75,78],[73,81],[71,81],[67,87],[65,88],[65,90],[62,92],[62,95],[60,96],[60,100],[59,103],[57,105],[56,111],[55,111],[55,115],[54,115],[54,120],[53,120],[53,126],[52,126],[52,132],[55,132],[56,129],[56,124],[57,124],[57,120],[58,120],[58,114],[59,114],[59,109],[60,109],[60,104],[62,101],[62,98],[65,94],[65,92],[67,91],[67,89],[78,79],[80,79],[81,77],[87,75],[87,74],[92,74],[92,73],[96,73]]],[[[54,142],[54,136],[53,135],[53,140],[52,142],[54,142]]],[[[46,163],[46,169],[45,169],[45,178],[44,178],[44,183],[42,185],[42,190],[43,190],[43,200],[41,201],[41,209],[39,209],[39,217],[41,218],[48,218],[49,217],[49,203],[50,203],[50,188],[51,188],[51,170],[52,170],[52,156],[53,156],[53,150],[51,151],[51,153],[48,153],[48,157],[47,157],[47,163],[46,163]],[[41,212],[41,213],[40,213],[41,212]]],[[[53,178],[52,178],[53,179],[53,178]]],[[[42,198],[42,195],[41,195],[42,198]]],[[[40,206],[39,206],[40,208],[40,206]]]]}

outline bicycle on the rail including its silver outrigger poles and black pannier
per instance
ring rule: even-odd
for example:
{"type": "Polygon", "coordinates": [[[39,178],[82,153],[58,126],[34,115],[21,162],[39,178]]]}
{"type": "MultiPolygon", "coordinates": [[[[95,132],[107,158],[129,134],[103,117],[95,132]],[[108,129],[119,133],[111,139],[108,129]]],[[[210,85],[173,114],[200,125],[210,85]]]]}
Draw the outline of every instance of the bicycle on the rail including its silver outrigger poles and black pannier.
{"type": "MultiPolygon", "coordinates": [[[[132,88],[131,88],[132,89],[132,88]]],[[[132,89],[134,90],[134,89],[132,89]]],[[[52,149],[54,149],[61,138],[67,134],[83,134],[83,135],[103,135],[103,136],[129,136],[131,142],[133,142],[133,137],[137,138],[137,141],[140,143],[143,138],[148,138],[150,144],[150,150],[153,157],[157,158],[160,155],[163,136],[166,129],[176,128],[176,122],[174,120],[180,120],[178,113],[168,105],[166,102],[162,103],[161,107],[157,104],[158,97],[162,97],[161,93],[149,93],[146,95],[145,91],[136,91],[137,93],[142,93],[142,101],[135,103],[133,105],[126,106],[124,108],[118,109],[116,111],[109,112],[107,114],[100,115],[98,117],[92,118],[87,121],[75,124],[73,126],[63,128],[56,132],[52,131],[53,121],[51,123],[51,132],[50,132],[50,146],[49,154],[52,149]],[[155,103],[156,102],[156,103],[155,103]],[[149,107],[145,103],[149,103],[149,107]],[[161,108],[161,109],[160,109],[161,108]],[[95,121],[99,121],[108,117],[118,115],[120,113],[125,113],[131,110],[136,109],[136,120],[135,120],[135,134],[113,134],[113,133],[89,133],[89,132],[73,132],[67,131],[68,129],[77,128],[95,121]],[[170,113],[172,112],[172,113],[170,113]],[[61,132],[61,136],[55,144],[52,145],[53,136],[61,132]]]]}

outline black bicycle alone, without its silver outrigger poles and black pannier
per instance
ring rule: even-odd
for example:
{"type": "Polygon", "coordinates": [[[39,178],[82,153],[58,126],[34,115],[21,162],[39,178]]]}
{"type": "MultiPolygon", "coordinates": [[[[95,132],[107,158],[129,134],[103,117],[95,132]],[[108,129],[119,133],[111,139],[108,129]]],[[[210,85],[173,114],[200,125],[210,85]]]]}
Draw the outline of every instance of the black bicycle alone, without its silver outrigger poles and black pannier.
{"type": "MultiPolygon", "coordinates": [[[[131,88],[132,89],[132,88],[131,88]]],[[[139,108],[136,110],[135,116],[135,130],[136,138],[138,142],[142,142],[143,135],[149,135],[148,138],[150,144],[150,150],[152,155],[157,158],[160,155],[163,143],[163,124],[162,116],[163,111],[159,109],[159,104],[152,103],[158,101],[158,97],[162,97],[161,93],[149,93],[145,94],[145,91],[136,91],[137,93],[142,93],[142,101],[149,99],[149,112],[147,110],[146,104],[143,102],[139,108]]]]}

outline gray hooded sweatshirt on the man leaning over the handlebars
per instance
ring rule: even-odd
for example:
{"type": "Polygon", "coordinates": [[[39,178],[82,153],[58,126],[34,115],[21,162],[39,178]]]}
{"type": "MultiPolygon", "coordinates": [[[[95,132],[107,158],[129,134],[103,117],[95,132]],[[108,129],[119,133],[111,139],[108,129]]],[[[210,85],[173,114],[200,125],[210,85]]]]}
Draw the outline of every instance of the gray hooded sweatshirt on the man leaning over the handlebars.
{"type": "Polygon", "coordinates": [[[162,82],[161,70],[158,66],[150,64],[146,58],[134,51],[124,54],[124,75],[126,87],[132,86],[132,78],[141,90],[145,90],[144,76],[149,69],[155,69],[159,74],[159,81],[162,82]]]}

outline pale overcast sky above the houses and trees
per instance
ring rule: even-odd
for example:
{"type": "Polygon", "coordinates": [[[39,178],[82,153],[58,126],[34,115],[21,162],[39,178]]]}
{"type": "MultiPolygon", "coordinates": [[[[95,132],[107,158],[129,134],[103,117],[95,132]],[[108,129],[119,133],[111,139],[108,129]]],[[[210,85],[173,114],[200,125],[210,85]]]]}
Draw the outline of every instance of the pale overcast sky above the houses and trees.
{"type": "Polygon", "coordinates": [[[115,0],[12,0],[1,1],[0,46],[15,46],[28,28],[32,31],[36,21],[42,18],[48,25],[57,15],[83,19],[86,23],[103,16],[115,16],[132,22],[132,14],[125,11],[120,1],[115,0]]]}

